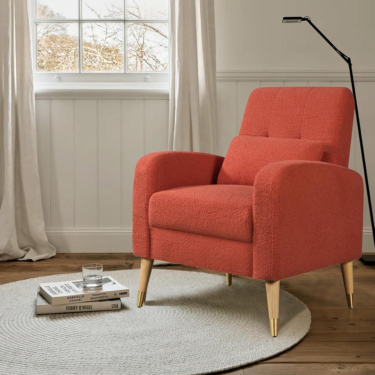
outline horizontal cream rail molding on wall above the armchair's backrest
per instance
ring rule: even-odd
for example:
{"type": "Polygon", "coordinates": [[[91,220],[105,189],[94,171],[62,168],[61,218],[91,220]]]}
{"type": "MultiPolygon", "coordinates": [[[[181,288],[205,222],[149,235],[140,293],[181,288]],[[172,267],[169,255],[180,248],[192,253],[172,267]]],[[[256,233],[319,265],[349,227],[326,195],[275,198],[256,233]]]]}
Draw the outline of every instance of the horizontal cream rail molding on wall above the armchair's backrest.
{"type": "MultiPolygon", "coordinates": [[[[354,71],[355,81],[375,81],[375,71],[354,71]]],[[[349,71],[219,70],[217,81],[350,81],[349,71]]]]}

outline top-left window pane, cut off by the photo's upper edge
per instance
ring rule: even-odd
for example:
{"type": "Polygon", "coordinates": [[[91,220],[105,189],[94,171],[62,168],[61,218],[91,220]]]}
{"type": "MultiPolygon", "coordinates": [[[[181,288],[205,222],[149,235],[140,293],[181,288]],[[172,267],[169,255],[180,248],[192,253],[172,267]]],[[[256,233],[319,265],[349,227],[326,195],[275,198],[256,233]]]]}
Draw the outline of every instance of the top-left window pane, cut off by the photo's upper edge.
{"type": "Polygon", "coordinates": [[[78,18],[78,0],[36,0],[36,18],[78,18]]]}

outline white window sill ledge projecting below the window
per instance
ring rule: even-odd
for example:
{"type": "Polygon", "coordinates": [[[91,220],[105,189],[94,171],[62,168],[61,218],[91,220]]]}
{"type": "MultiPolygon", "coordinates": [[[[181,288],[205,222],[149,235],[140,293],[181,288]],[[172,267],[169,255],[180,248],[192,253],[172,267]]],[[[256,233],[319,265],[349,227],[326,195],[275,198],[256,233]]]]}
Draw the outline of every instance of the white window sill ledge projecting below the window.
{"type": "Polygon", "coordinates": [[[35,83],[36,99],[168,99],[168,83],[35,83]]]}

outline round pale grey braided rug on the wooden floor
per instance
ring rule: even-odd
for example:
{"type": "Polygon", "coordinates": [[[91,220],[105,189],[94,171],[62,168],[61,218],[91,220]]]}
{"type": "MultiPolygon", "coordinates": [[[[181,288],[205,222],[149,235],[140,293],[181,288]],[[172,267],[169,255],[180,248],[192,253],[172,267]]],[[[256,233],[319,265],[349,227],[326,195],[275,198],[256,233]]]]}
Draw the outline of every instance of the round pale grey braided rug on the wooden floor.
{"type": "Polygon", "coordinates": [[[153,269],[142,308],[139,270],[108,272],[130,289],[120,311],[35,315],[37,285],[80,273],[0,285],[1,374],[192,375],[275,356],[309,330],[311,315],[280,291],[279,336],[270,335],[266,288],[225,275],[153,269]]]}

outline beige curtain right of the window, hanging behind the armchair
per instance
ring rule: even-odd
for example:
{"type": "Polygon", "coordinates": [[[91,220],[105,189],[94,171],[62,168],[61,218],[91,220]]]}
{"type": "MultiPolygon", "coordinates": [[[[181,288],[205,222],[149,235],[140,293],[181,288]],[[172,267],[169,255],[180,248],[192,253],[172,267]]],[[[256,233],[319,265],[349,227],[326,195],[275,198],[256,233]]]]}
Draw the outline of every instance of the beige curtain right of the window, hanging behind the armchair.
{"type": "Polygon", "coordinates": [[[168,149],[216,153],[214,0],[169,1],[168,149]]]}

